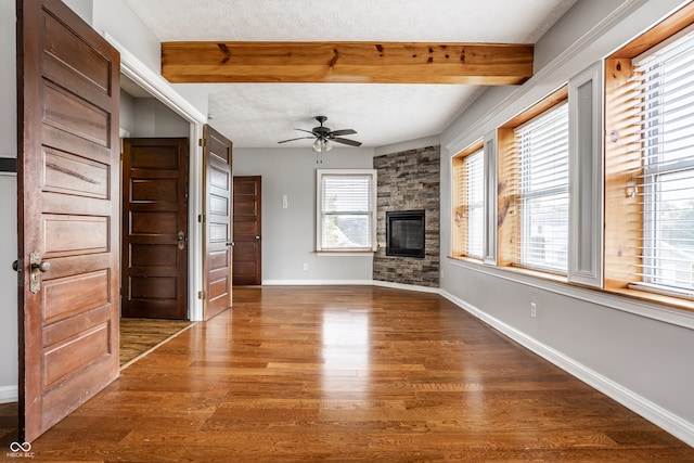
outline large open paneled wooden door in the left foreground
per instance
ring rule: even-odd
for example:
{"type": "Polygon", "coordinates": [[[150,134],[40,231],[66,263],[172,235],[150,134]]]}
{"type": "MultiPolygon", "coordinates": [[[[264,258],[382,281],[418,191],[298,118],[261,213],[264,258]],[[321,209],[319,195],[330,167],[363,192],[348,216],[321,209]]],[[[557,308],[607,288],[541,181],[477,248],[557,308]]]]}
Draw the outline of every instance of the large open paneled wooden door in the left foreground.
{"type": "Polygon", "coordinates": [[[59,0],[17,1],[20,434],[118,376],[120,59],[59,0]]]}

